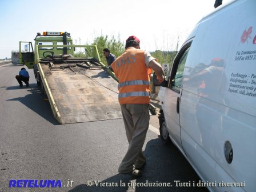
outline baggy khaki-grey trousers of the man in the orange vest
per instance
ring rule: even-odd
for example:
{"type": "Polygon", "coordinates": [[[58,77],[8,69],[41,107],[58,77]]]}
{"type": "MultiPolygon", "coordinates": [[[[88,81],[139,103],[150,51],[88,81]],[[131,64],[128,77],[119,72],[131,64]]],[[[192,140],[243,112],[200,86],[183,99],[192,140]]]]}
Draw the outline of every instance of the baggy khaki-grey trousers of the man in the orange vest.
{"type": "Polygon", "coordinates": [[[124,104],[121,105],[121,110],[129,148],[119,165],[118,172],[129,173],[133,171],[134,166],[141,167],[146,163],[142,147],[146,139],[147,129],[149,129],[149,105],[124,104]]]}

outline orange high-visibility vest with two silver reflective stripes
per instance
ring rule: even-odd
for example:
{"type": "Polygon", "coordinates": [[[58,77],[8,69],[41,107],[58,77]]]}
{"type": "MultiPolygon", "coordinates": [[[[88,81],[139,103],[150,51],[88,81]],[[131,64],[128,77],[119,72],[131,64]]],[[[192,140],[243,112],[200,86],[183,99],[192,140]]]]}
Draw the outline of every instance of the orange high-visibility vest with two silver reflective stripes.
{"type": "MultiPolygon", "coordinates": [[[[122,104],[149,104],[150,74],[145,65],[143,50],[129,48],[112,64],[119,79],[118,100],[122,104]]],[[[151,71],[151,70],[150,70],[151,71]]]]}

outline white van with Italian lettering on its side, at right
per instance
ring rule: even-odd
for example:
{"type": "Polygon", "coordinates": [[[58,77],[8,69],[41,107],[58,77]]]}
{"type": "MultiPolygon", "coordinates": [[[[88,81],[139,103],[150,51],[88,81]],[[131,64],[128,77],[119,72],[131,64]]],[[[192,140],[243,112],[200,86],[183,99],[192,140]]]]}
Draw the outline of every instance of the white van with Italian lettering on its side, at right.
{"type": "Polygon", "coordinates": [[[255,191],[256,1],[232,1],[199,21],[165,84],[163,142],[178,147],[210,191],[255,191]]]}

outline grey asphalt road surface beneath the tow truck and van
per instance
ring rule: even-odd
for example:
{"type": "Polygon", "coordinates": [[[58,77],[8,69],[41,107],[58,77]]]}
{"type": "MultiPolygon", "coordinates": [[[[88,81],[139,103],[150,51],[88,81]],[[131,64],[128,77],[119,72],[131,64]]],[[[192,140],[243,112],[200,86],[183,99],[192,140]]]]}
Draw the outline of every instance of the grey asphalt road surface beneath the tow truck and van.
{"type": "MultiPolygon", "coordinates": [[[[58,125],[33,70],[30,87],[18,86],[21,67],[0,66],[0,191],[207,191],[193,187],[198,175],[176,147],[162,144],[157,131],[147,133],[142,177],[118,174],[128,147],[122,119],[58,125]],[[9,187],[11,179],[58,185],[9,187]]],[[[157,121],[151,116],[151,127],[157,121]]]]}

